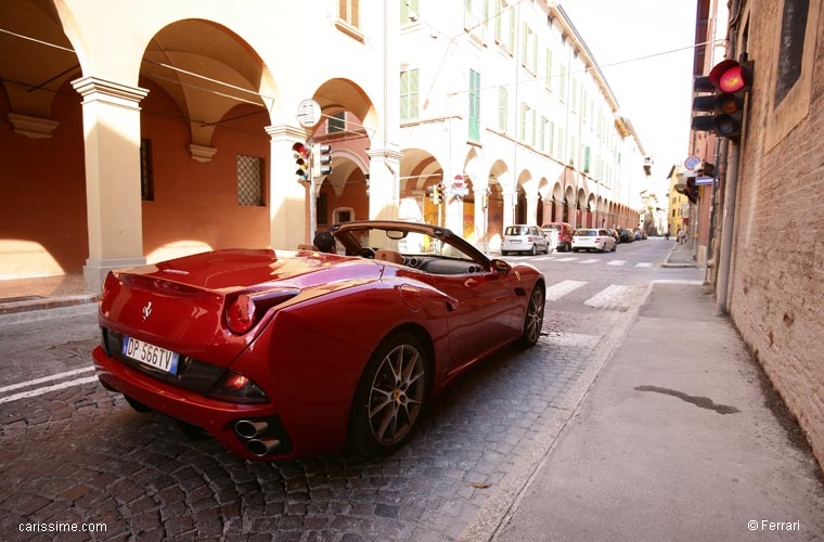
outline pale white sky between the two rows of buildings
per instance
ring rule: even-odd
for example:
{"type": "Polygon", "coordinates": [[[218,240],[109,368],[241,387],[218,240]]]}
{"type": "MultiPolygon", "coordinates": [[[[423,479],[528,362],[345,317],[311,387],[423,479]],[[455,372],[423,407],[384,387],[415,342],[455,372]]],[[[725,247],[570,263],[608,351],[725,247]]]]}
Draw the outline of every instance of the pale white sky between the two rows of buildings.
{"type": "Polygon", "coordinates": [[[602,66],[619,115],[630,119],[653,157],[652,181],[662,196],[667,173],[687,157],[697,1],[558,3],[602,66]]]}

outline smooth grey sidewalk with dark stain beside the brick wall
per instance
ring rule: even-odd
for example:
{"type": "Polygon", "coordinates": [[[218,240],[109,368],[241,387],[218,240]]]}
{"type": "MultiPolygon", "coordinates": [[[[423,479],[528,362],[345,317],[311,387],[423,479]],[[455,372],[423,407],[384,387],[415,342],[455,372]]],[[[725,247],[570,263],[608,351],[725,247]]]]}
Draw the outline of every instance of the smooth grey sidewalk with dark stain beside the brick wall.
{"type": "Polygon", "coordinates": [[[712,312],[701,286],[654,285],[493,540],[824,540],[821,469],[712,312]]]}

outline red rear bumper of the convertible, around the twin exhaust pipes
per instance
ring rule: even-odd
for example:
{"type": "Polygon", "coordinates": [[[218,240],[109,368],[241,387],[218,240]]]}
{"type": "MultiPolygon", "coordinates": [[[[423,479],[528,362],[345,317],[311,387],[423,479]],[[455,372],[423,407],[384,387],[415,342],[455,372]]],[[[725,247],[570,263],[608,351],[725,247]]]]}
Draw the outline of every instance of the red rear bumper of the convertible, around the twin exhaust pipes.
{"type": "MultiPolygon", "coordinates": [[[[235,454],[250,460],[275,460],[294,456],[294,448],[272,403],[242,404],[209,399],[129,367],[106,356],[102,347],[92,352],[94,367],[107,389],[119,391],[146,406],[173,418],[201,427],[235,454]],[[237,433],[240,421],[263,421],[267,430],[254,438],[237,433]],[[265,456],[249,451],[252,440],[279,441],[265,456]]],[[[257,446],[257,444],[255,444],[257,446]]]]}

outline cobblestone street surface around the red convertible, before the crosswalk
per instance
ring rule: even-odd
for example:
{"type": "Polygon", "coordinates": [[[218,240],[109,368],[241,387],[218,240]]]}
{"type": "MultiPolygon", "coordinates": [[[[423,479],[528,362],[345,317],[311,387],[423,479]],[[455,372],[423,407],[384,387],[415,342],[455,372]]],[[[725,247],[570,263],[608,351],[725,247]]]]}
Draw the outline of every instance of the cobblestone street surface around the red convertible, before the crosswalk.
{"type": "MultiPolygon", "coordinates": [[[[14,350],[2,352],[9,374],[89,367],[92,313],[69,340],[43,340],[66,339],[67,322],[78,318],[0,324],[2,350],[14,350]]],[[[21,524],[60,521],[106,524],[104,533],[65,540],[458,540],[495,509],[495,499],[520,490],[537,448],[606,359],[615,336],[572,333],[592,318],[620,330],[630,313],[548,312],[536,348],[480,363],[434,404],[409,446],[382,461],[243,461],[210,439],[189,440],[168,417],[134,412],[94,380],[7,400],[2,538],[29,540],[21,524]]]]}

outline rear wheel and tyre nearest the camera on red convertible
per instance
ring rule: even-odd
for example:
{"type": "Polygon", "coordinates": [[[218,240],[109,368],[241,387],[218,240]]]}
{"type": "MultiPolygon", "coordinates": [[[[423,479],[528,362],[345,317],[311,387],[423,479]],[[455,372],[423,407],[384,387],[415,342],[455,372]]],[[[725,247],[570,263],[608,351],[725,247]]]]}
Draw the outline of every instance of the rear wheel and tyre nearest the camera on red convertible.
{"type": "Polygon", "coordinates": [[[355,393],[349,430],[353,451],[381,457],[410,439],[429,395],[430,372],[428,350],[411,333],[389,335],[378,345],[355,393]]]}

